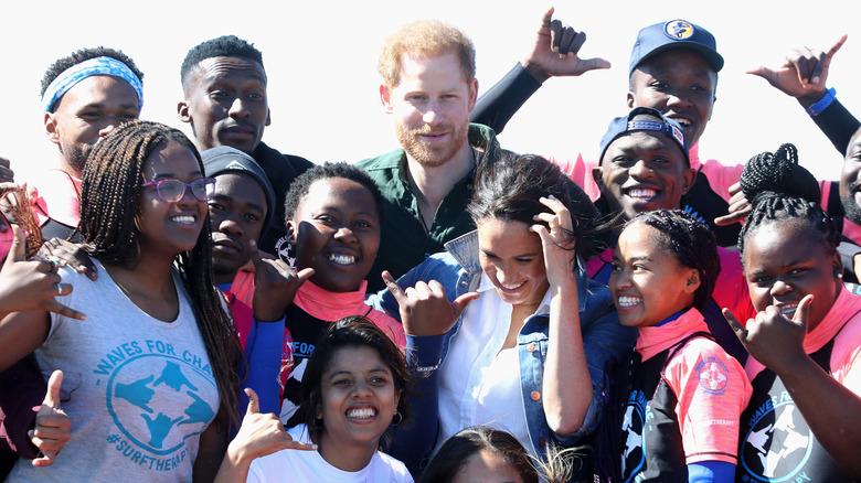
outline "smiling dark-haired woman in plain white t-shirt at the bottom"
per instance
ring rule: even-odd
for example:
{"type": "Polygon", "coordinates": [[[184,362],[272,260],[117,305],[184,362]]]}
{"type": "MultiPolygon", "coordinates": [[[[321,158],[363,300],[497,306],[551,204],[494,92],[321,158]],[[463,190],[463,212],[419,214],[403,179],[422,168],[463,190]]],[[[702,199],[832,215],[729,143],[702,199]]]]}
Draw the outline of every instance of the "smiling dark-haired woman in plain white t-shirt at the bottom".
{"type": "Polygon", "coordinates": [[[319,451],[284,450],[251,463],[249,482],[412,482],[403,463],[380,452],[390,425],[410,419],[401,350],[362,316],[331,324],[308,361],[294,440],[319,451]]]}

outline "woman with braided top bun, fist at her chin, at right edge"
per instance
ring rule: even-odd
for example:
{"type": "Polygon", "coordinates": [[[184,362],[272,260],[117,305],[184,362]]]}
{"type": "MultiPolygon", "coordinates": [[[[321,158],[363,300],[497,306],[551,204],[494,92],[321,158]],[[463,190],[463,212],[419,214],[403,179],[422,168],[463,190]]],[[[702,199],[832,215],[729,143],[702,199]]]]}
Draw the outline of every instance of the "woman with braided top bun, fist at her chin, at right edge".
{"type": "Polygon", "coordinates": [[[742,176],[753,210],[738,249],[756,312],[742,325],[724,310],[754,390],[736,481],[861,477],[861,299],[843,287],[840,234],[797,162],[784,146],[742,176]]]}

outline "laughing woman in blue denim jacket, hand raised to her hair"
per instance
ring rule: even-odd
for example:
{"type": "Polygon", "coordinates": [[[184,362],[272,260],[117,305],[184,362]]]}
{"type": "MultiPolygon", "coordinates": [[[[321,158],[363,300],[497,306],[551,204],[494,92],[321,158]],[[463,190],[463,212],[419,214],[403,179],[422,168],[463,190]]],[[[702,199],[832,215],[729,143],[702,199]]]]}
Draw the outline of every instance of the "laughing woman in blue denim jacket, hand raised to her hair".
{"type": "Polygon", "coordinates": [[[605,365],[636,340],[607,288],[585,277],[577,253],[592,233],[571,216],[578,187],[536,155],[504,157],[478,178],[468,206],[478,229],[397,283],[384,273],[389,290],[372,298],[401,318],[408,363],[434,389],[393,454],[475,425],[513,433],[533,454],[585,443],[606,401],[605,365]]]}

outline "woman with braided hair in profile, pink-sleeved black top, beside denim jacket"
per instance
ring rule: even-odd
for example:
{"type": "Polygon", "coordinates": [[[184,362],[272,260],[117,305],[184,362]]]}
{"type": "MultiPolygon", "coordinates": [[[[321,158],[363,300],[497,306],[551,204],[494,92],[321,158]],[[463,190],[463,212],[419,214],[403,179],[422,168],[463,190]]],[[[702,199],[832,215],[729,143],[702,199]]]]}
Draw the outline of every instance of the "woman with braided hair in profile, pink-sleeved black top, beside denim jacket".
{"type": "Polygon", "coordinates": [[[625,225],[609,289],[619,323],[639,337],[610,376],[618,390],[598,438],[602,481],[733,481],[751,383],[700,312],[720,271],[714,234],[685,212],[644,212],[625,225]]]}

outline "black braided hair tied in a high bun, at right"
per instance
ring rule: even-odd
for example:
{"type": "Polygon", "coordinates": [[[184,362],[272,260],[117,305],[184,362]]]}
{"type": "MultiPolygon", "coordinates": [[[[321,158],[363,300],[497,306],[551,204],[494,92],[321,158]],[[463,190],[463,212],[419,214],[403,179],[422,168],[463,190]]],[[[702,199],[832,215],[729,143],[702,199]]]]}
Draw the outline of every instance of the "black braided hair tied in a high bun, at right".
{"type": "Polygon", "coordinates": [[[742,262],[747,234],[766,222],[804,219],[822,234],[829,247],[837,249],[840,245],[837,225],[819,206],[819,183],[798,164],[795,146],[783,144],[774,154],[763,152],[751,158],[742,171],[741,184],[753,206],[738,234],[742,262]]]}

